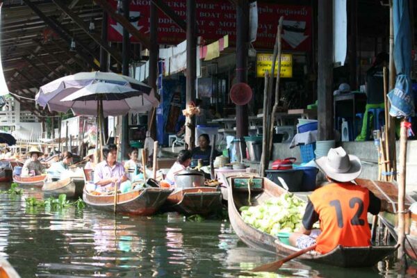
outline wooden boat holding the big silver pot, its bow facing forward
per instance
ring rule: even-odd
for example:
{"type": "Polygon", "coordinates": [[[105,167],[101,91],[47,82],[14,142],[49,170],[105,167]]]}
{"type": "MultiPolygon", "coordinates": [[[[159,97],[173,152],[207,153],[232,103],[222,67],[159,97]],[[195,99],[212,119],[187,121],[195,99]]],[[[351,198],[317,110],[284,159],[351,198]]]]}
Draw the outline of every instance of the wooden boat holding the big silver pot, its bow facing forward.
{"type": "Polygon", "coordinates": [[[167,197],[167,206],[186,215],[209,215],[222,208],[222,193],[217,188],[178,188],[167,197]]]}

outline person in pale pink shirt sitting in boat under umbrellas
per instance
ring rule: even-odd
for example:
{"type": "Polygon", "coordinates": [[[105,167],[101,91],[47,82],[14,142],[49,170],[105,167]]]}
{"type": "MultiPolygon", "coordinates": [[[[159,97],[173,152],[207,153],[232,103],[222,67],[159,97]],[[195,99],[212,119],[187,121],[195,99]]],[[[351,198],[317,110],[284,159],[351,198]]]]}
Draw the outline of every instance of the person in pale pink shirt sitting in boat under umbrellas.
{"type": "MultiPolygon", "coordinates": [[[[117,147],[109,144],[103,147],[104,161],[94,169],[94,182],[101,189],[112,187],[113,183],[127,181],[122,163],[117,162],[117,147]]],[[[98,189],[98,188],[97,188],[98,189]]]]}

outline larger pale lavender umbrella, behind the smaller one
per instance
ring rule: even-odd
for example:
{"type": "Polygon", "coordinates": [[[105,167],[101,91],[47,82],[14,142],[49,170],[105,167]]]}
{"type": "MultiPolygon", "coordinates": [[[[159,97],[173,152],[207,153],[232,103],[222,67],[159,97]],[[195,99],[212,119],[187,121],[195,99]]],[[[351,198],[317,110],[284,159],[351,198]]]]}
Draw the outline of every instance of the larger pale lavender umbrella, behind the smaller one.
{"type": "Polygon", "coordinates": [[[151,94],[152,88],[129,76],[115,74],[113,72],[79,72],[60,79],[51,81],[42,87],[35,100],[40,106],[48,106],[49,111],[67,112],[69,108],[60,102],[61,99],[71,95],[80,88],[93,83],[111,83],[138,90],[146,95],[151,94]]]}

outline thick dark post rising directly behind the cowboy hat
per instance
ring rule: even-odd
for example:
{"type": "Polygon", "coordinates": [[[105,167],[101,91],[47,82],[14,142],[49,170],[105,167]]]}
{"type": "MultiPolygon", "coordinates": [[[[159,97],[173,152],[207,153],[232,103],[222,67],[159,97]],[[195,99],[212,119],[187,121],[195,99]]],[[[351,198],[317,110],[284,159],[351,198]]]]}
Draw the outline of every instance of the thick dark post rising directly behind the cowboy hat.
{"type": "Polygon", "coordinates": [[[318,1],[318,140],[333,140],[333,1],[318,1]]]}

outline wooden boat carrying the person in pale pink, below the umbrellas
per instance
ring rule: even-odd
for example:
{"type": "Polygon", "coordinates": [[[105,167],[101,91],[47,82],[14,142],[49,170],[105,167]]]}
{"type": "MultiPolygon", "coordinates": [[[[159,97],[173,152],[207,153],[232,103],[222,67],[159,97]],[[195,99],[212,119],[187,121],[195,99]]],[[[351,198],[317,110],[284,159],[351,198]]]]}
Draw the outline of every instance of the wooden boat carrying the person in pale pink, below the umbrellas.
{"type": "MultiPolygon", "coordinates": [[[[143,188],[117,194],[117,213],[152,215],[165,203],[173,189],[143,188]]],[[[83,200],[89,206],[102,211],[114,210],[115,195],[92,195],[83,191],[83,200]]]]}

